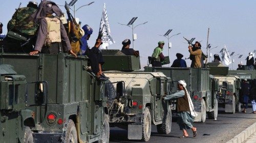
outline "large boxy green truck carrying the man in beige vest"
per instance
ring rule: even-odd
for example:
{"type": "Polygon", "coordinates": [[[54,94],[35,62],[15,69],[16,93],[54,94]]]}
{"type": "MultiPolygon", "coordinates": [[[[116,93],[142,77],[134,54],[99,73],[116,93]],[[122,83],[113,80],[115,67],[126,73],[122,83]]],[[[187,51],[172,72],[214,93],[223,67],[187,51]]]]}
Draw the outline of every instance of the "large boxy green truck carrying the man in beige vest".
{"type": "MultiPolygon", "coordinates": [[[[31,129],[34,142],[109,142],[105,82],[88,70],[87,57],[2,53],[0,63],[12,65],[29,82],[44,81],[37,87],[27,85],[26,109],[33,118],[20,123],[31,129]]],[[[12,118],[8,125],[19,123],[20,118],[12,118]]]]}

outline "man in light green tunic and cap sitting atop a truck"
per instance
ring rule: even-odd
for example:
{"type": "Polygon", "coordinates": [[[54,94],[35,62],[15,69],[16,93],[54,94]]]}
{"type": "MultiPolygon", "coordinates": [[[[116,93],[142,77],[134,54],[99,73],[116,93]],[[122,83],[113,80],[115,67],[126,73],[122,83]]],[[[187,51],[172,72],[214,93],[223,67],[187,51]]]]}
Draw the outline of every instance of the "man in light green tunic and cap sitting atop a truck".
{"type": "Polygon", "coordinates": [[[154,52],[152,54],[152,61],[151,61],[152,67],[162,67],[161,61],[164,60],[164,55],[162,53],[163,45],[164,45],[164,41],[159,41],[158,47],[154,49],[154,52]]]}

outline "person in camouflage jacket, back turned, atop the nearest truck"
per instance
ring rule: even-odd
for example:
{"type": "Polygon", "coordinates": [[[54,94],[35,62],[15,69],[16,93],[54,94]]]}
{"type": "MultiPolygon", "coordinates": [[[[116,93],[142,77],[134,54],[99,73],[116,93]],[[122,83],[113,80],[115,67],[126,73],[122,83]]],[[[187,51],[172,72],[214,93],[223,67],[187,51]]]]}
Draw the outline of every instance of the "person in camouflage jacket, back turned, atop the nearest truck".
{"type": "Polygon", "coordinates": [[[35,34],[38,28],[38,24],[30,20],[30,16],[37,10],[37,2],[30,1],[25,8],[18,8],[12,15],[12,19],[7,24],[7,38],[4,40],[5,52],[30,52],[33,50],[35,44],[35,34]],[[17,40],[20,35],[23,40],[17,40]],[[29,42],[21,47],[21,44],[25,43],[25,40],[29,39],[29,42]]]}

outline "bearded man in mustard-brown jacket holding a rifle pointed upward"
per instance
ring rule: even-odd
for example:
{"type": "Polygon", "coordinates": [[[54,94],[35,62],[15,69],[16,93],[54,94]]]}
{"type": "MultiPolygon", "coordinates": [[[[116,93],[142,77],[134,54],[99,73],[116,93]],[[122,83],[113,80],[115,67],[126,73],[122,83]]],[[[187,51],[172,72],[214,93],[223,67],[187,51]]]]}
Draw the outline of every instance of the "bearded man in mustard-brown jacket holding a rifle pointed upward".
{"type": "Polygon", "coordinates": [[[194,47],[188,46],[188,51],[190,53],[190,60],[191,60],[191,68],[201,68],[201,57],[202,57],[202,50],[201,44],[196,41],[194,47]]]}

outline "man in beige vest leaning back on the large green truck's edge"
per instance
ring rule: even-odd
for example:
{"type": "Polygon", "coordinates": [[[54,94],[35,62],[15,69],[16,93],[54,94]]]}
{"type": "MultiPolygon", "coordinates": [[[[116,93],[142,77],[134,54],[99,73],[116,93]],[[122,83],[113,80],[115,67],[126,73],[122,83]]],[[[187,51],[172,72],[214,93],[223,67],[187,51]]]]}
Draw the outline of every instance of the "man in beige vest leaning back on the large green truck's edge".
{"type": "Polygon", "coordinates": [[[40,21],[39,30],[37,33],[36,44],[30,55],[41,53],[58,53],[68,51],[76,56],[72,51],[70,41],[62,22],[55,16],[63,15],[59,7],[51,1],[42,1],[39,4],[38,10],[31,16],[35,22],[40,21]],[[61,40],[63,45],[61,44],[61,40]]]}

